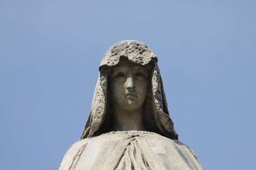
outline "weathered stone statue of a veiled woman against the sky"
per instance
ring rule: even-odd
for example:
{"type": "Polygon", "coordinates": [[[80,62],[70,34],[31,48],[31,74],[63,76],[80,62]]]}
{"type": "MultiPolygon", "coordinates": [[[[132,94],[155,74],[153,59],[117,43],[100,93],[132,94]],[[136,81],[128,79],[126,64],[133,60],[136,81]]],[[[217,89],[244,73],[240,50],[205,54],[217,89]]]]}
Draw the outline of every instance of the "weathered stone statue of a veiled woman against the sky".
{"type": "Polygon", "coordinates": [[[86,126],[59,167],[71,169],[202,169],[178,140],[157,57],[146,44],[125,40],[105,53],[86,126]]]}

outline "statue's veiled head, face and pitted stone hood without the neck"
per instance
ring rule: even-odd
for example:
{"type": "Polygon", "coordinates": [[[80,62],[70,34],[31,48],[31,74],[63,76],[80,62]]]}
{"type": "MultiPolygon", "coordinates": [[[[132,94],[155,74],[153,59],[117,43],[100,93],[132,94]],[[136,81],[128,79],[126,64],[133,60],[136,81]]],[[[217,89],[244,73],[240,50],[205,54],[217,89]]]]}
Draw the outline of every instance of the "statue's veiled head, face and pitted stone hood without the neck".
{"type": "Polygon", "coordinates": [[[105,53],[81,138],[110,131],[113,104],[126,110],[142,108],[148,131],[178,139],[169,117],[157,57],[145,43],[120,41],[105,53]]]}

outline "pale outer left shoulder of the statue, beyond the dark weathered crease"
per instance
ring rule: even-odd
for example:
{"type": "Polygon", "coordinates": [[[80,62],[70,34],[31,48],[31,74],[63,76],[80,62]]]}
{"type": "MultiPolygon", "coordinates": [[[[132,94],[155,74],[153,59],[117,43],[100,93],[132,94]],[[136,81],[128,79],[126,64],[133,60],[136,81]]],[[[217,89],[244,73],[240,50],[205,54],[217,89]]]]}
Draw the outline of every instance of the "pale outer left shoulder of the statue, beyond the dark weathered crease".
{"type": "Polygon", "coordinates": [[[73,160],[76,155],[81,154],[82,151],[86,148],[86,145],[88,144],[89,139],[81,139],[75,142],[71,145],[71,147],[67,150],[65,153],[65,156],[63,157],[59,170],[66,170],[69,169],[69,167],[76,161],[73,160]]]}

